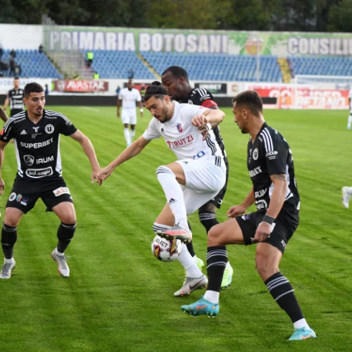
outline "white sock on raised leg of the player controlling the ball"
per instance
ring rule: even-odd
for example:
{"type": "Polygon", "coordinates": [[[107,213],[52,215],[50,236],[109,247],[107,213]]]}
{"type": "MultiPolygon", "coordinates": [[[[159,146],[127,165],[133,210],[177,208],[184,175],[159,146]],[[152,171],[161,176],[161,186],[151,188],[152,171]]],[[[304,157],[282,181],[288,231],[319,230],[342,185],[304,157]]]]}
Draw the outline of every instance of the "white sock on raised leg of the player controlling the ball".
{"type": "Polygon", "coordinates": [[[183,192],[181,185],[176,180],[175,174],[166,166],[159,166],[156,169],[156,177],[161,187],[163,187],[166,201],[168,201],[168,205],[175,217],[175,224],[189,230],[183,192]]]}

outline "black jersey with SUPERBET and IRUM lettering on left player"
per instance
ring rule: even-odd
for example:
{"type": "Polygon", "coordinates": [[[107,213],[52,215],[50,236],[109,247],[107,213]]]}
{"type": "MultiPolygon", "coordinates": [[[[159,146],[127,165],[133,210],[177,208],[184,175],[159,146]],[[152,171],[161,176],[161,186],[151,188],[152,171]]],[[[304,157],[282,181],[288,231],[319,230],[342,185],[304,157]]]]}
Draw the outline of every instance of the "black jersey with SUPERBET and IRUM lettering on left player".
{"type": "Polygon", "coordinates": [[[16,177],[39,179],[61,177],[60,134],[69,136],[77,131],[62,113],[44,110],[36,124],[23,111],[9,118],[0,132],[0,140],[13,138],[18,164],[16,177]]]}

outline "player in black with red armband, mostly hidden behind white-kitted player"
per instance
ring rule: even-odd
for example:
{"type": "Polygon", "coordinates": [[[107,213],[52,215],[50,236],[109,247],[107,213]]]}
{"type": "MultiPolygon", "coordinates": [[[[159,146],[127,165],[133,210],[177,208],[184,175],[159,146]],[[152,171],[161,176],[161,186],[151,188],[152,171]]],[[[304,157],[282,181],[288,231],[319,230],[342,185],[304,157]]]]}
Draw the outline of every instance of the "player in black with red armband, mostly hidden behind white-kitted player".
{"type": "MultiPolygon", "coordinates": [[[[218,104],[213,101],[213,96],[207,89],[191,87],[191,84],[189,84],[187,71],[180,66],[170,66],[169,68],[167,68],[161,75],[161,82],[163,83],[163,86],[167,89],[171,99],[174,99],[179,103],[201,105],[205,108],[210,109],[218,108],[218,104]]],[[[216,142],[218,142],[222,151],[222,155],[224,156],[224,161],[226,165],[226,183],[214,199],[208,201],[206,204],[201,206],[201,208],[199,208],[199,220],[201,224],[206,228],[207,233],[209,232],[211,227],[219,223],[216,218],[216,208],[220,208],[221,206],[222,199],[224,199],[227,188],[227,181],[229,179],[229,162],[227,161],[225,145],[220,135],[220,129],[218,125],[215,124],[211,127],[213,128],[216,137],[216,142]]],[[[199,268],[201,268],[204,265],[203,260],[196,257],[196,254],[194,253],[193,244],[187,244],[187,249],[189,253],[191,253],[191,256],[196,259],[199,268]]],[[[230,263],[227,262],[227,266],[222,277],[222,288],[230,286],[232,282],[232,274],[232,267],[230,263]]]]}

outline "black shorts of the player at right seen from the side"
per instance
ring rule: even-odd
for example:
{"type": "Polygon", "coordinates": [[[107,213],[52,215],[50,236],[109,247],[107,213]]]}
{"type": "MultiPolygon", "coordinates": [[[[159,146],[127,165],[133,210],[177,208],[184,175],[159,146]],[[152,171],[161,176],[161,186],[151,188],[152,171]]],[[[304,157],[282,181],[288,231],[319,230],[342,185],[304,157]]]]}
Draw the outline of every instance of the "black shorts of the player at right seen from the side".
{"type": "MultiPolygon", "coordinates": [[[[264,214],[265,212],[263,211],[256,211],[255,213],[237,216],[236,220],[239,223],[239,227],[241,227],[244,237],[244,244],[246,244],[246,246],[253,244],[256,229],[260,224],[264,214]]],[[[298,222],[298,210],[286,210],[282,208],[279,216],[275,220],[275,226],[270,234],[270,237],[265,239],[265,242],[279,249],[281,253],[284,253],[287,242],[298,227],[298,222]]]]}

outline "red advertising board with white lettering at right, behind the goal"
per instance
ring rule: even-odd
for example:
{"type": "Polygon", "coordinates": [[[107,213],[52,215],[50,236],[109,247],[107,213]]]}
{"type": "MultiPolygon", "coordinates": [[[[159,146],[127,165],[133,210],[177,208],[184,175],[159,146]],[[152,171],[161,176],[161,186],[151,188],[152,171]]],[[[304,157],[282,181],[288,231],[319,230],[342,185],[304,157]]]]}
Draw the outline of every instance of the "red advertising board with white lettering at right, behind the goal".
{"type": "Polygon", "coordinates": [[[262,97],[275,97],[277,103],[265,108],[348,109],[347,89],[316,89],[308,84],[245,84],[262,97]]]}

